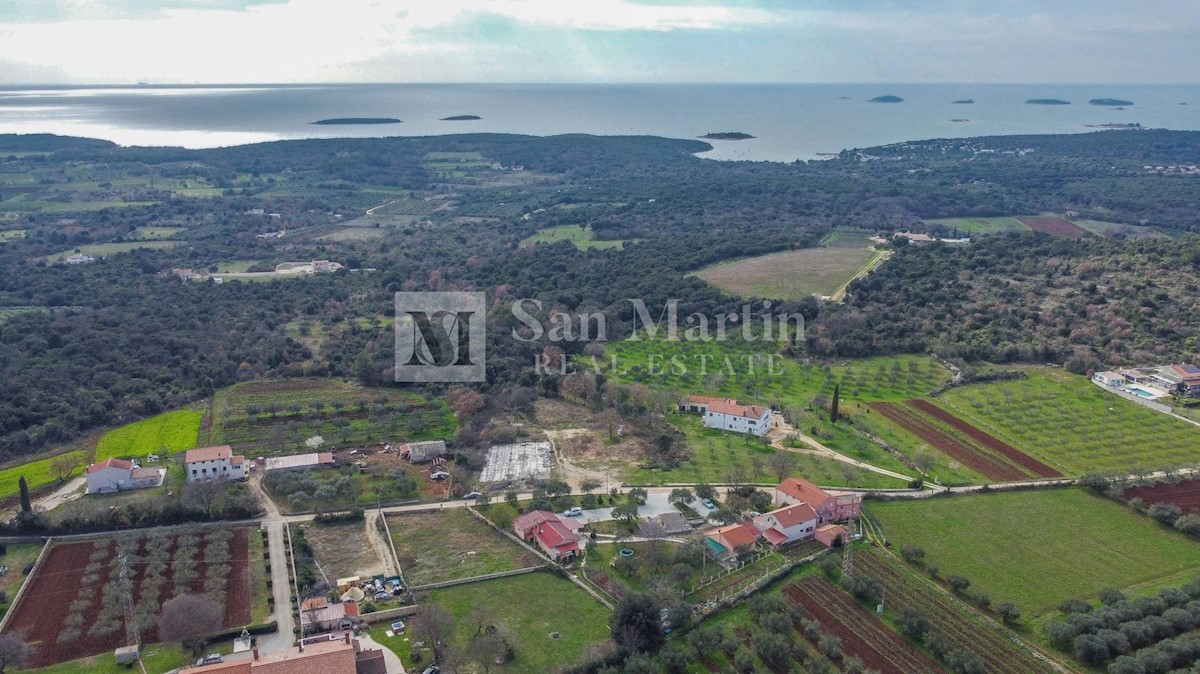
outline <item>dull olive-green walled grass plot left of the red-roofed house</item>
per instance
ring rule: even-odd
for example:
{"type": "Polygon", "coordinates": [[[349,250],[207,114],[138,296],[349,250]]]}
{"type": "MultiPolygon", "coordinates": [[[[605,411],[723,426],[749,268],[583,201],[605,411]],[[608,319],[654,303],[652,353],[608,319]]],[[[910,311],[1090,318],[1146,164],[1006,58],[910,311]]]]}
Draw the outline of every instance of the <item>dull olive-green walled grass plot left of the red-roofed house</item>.
{"type": "Polygon", "coordinates": [[[545,564],[466,508],[388,516],[388,526],[401,573],[409,585],[545,564]]]}

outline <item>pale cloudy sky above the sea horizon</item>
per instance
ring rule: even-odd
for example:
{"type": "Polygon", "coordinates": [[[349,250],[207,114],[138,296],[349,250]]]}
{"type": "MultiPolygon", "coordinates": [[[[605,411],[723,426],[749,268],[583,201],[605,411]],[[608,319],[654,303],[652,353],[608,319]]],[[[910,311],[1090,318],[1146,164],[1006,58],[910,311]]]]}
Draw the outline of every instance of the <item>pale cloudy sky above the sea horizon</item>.
{"type": "Polygon", "coordinates": [[[0,0],[0,84],[1200,83],[1200,0],[0,0]]]}

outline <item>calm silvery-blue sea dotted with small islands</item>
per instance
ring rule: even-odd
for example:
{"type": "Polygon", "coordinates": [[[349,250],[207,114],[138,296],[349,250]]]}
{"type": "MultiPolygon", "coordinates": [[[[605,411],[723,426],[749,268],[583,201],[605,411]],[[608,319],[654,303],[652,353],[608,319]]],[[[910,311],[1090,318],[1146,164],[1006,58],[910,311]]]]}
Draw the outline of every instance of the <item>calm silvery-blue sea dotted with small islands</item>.
{"type": "Polygon", "coordinates": [[[1139,122],[1200,130],[1200,86],[1176,85],[478,85],[0,88],[0,133],[59,133],[122,145],[214,148],[288,138],[504,132],[653,134],[713,140],[704,156],[793,161],[916,140],[1075,133],[1139,122]],[[870,103],[895,95],[902,103],[870,103]],[[954,104],[972,98],[974,104],[954,104]],[[1070,106],[1030,106],[1062,98],[1070,106]],[[1123,98],[1123,110],[1090,106],[1123,98]],[[439,121],[479,115],[479,121],[439,121]],[[325,118],[397,118],[383,126],[313,126],[325,118]],[[950,121],[966,119],[970,121],[950,121]]]}

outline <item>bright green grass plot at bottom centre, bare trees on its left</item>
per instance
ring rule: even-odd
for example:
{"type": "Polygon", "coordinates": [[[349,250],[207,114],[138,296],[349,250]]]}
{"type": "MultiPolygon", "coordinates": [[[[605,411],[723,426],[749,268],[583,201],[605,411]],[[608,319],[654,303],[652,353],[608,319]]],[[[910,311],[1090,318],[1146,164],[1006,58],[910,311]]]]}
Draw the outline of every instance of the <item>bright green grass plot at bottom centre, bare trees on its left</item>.
{"type": "MultiPolygon", "coordinates": [[[[550,573],[457,585],[436,590],[425,601],[444,606],[457,619],[455,644],[460,648],[474,633],[469,615],[475,609],[488,612],[493,624],[512,634],[514,658],[492,672],[554,672],[577,663],[588,646],[608,639],[608,609],[570,580],[550,573]]],[[[427,655],[422,662],[428,662],[427,655]]]]}

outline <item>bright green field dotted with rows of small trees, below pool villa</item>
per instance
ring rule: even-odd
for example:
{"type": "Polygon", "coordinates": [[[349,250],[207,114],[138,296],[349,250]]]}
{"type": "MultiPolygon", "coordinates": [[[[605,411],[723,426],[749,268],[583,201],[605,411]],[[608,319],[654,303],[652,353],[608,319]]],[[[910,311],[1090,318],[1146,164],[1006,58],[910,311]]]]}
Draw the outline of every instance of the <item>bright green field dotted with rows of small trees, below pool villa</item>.
{"type": "Polygon", "coordinates": [[[1200,428],[1061,369],[960,386],[938,398],[955,415],[1067,475],[1200,462],[1200,428]]]}

